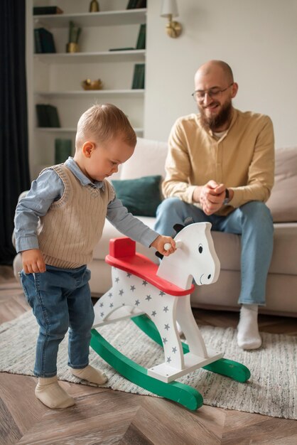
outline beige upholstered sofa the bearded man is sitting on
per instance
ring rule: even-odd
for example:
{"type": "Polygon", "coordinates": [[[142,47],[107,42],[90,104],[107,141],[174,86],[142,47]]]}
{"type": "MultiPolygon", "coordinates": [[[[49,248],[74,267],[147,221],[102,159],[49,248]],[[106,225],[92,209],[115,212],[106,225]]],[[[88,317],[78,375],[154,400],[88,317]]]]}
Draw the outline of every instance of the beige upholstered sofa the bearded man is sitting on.
{"type": "MultiPolygon", "coordinates": [[[[167,144],[138,139],[134,156],[121,166],[117,179],[126,180],[160,174],[164,176],[167,144]]],[[[116,178],[116,177],[112,177],[116,178]]],[[[276,179],[267,203],[274,216],[274,254],[266,287],[266,307],[263,313],[297,316],[297,147],[276,150],[276,179]]],[[[155,218],[139,217],[149,227],[155,218]]],[[[108,221],[102,239],[94,251],[91,269],[91,291],[102,294],[111,286],[111,269],[104,262],[109,239],[123,236],[108,221]]],[[[206,309],[237,310],[240,289],[240,236],[212,232],[215,249],[221,263],[220,277],[215,284],[196,286],[192,305],[206,309]]],[[[138,252],[154,262],[153,249],[137,244],[138,252]]]]}

